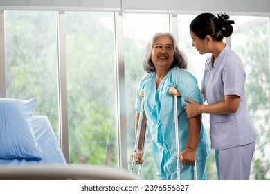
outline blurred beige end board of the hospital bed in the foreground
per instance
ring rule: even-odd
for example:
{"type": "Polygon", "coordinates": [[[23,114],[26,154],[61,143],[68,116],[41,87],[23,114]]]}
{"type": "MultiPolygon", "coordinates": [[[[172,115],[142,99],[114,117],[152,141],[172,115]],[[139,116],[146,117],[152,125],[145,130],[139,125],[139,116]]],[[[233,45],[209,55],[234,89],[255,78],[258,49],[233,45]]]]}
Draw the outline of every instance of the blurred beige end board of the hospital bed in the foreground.
{"type": "Polygon", "coordinates": [[[125,170],[105,166],[0,166],[0,180],[136,180],[125,170]]]}

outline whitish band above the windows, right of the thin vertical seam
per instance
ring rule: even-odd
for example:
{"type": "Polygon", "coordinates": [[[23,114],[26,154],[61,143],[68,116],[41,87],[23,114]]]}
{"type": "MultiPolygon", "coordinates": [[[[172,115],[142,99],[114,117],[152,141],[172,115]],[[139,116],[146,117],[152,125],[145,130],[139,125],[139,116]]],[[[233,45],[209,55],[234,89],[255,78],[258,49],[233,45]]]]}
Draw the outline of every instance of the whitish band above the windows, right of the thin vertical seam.
{"type": "Polygon", "coordinates": [[[183,14],[199,12],[228,12],[233,15],[270,15],[269,0],[125,0],[126,12],[166,12],[183,14]],[[147,3],[146,3],[147,2],[147,3]]]}

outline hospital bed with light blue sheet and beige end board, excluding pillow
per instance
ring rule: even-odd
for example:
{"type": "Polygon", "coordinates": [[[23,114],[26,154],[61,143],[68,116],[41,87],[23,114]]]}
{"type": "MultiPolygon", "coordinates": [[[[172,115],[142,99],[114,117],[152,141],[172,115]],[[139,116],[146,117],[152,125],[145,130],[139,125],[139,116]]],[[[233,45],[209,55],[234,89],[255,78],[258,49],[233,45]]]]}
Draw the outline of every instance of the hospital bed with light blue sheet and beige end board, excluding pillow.
{"type": "Polygon", "coordinates": [[[43,159],[0,159],[0,179],[137,179],[125,170],[117,168],[66,164],[47,116],[32,116],[32,125],[37,143],[43,152],[43,159]]]}

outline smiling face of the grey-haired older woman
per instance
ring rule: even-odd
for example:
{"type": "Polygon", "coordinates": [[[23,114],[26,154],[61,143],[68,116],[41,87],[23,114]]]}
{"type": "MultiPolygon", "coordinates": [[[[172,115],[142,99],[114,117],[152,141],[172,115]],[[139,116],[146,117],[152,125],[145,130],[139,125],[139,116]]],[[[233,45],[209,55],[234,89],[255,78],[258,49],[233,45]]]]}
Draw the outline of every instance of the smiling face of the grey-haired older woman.
{"type": "Polygon", "coordinates": [[[152,46],[151,60],[154,67],[168,67],[172,66],[174,62],[174,48],[170,37],[162,36],[156,38],[152,46]]]}

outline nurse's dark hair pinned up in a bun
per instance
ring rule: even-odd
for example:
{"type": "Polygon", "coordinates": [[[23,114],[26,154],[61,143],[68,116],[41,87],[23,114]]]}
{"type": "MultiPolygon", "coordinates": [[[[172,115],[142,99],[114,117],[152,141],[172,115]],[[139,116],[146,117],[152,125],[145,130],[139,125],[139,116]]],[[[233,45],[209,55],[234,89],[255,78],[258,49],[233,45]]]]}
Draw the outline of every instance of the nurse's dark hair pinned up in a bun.
{"type": "Polygon", "coordinates": [[[223,37],[230,37],[233,33],[231,24],[234,24],[234,21],[228,18],[226,13],[220,13],[217,17],[212,13],[202,13],[191,21],[190,32],[201,39],[210,35],[213,39],[222,41],[223,37]]]}

